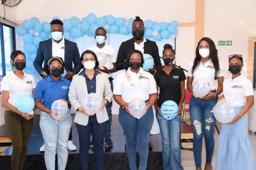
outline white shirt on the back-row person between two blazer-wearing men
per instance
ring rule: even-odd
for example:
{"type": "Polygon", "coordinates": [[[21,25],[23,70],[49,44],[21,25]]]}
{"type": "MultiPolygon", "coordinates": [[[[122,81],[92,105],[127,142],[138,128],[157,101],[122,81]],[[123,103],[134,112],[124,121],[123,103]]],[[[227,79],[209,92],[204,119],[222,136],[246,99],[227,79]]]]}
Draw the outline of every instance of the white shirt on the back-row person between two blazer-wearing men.
{"type": "MultiPolygon", "coordinates": [[[[105,67],[107,67],[109,70],[113,69],[113,62],[117,61],[117,51],[112,46],[105,44],[103,48],[98,48],[97,45],[93,45],[88,48],[88,50],[92,50],[94,53],[104,52],[108,57],[105,67]]],[[[112,73],[109,73],[108,76],[112,77],[112,73]]]]}

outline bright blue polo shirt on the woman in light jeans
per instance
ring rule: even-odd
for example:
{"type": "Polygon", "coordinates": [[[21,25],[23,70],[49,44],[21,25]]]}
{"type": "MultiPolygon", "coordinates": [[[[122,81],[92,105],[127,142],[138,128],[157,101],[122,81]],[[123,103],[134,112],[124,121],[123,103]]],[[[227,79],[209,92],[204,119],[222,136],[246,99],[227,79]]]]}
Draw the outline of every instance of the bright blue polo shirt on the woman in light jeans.
{"type": "Polygon", "coordinates": [[[42,104],[51,109],[53,101],[65,99],[68,101],[68,91],[71,82],[61,76],[59,81],[55,81],[49,75],[36,85],[35,98],[42,99],[42,104]]]}

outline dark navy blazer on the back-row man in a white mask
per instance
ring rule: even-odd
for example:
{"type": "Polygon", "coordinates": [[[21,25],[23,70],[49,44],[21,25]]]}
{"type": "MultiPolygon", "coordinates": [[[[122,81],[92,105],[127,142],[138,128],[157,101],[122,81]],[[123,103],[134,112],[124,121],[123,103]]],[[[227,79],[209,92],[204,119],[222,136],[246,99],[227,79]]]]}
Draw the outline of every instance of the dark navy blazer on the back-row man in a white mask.
{"type": "MultiPolygon", "coordinates": [[[[44,69],[46,69],[47,59],[55,57],[52,56],[52,39],[41,41],[38,46],[38,52],[34,60],[34,67],[36,71],[40,74],[44,69]],[[44,68],[42,64],[44,62],[44,68]]],[[[74,73],[79,73],[82,68],[80,62],[79,50],[77,48],[76,42],[72,42],[65,39],[65,54],[64,54],[64,66],[67,71],[73,71],[74,73]],[[74,68],[73,68],[74,63],[74,68]]]]}

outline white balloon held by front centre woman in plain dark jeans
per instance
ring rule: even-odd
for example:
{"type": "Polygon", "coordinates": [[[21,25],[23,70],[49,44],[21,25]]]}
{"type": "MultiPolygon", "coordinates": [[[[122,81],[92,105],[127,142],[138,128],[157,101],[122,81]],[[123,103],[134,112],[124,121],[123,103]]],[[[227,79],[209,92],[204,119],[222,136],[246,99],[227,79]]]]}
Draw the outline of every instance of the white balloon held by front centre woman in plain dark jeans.
{"type": "Polygon", "coordinates": [[[139,119],[146,111],[146,103],[141,99],[133,99],[129,103],[129,109],[133,117],[139,119]]]}

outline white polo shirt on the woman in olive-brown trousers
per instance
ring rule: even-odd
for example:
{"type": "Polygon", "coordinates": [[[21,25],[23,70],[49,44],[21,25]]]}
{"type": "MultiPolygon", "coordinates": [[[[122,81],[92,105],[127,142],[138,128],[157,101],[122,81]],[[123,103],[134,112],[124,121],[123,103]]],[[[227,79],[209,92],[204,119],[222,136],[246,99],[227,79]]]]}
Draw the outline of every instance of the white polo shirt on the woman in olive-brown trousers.
{"type": "Polygon", "coordinates": [[[8,102],[16,107],[16,100],[20,95],[32,96],[32,90],[36,87],[34,76],[24,73],[23,79],[16,76],[13,71],[2,79],[1,90],[9,91],[8,102]]]}

